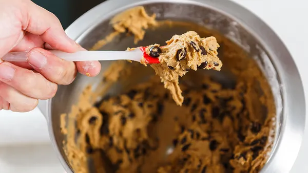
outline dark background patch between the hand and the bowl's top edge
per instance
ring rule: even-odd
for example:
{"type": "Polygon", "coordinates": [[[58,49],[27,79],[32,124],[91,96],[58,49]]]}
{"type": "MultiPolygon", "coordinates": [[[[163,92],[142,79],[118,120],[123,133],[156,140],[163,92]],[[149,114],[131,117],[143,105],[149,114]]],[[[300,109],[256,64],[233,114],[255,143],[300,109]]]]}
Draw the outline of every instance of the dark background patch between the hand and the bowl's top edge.
{"type": "Polygon", "coordinates": [[[104,1],[106,0],[32,0],[35,4],[55,14],[64,29],[79,16],[104,1]]]}

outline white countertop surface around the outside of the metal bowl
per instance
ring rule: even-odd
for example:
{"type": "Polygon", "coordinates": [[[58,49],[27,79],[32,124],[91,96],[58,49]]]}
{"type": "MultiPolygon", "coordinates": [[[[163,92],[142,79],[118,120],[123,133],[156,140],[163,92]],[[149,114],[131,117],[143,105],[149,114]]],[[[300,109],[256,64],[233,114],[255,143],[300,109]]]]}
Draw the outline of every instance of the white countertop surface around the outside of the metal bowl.
{"type": "MultiPolygon", "coordinates": [[[[261,17],[290,50],[302,76],[308,104],[308,1],[234,0],[261,17]]],[[[308,108],[308,106],[306,106],[308,108]]],[[[307,124],[308,118],[306,119],[307,124]]],[[[291,172],[308,172],[308,132],[291,172]]],[[[0,111],[1,172],[63,172],[49,144],[46,121],[38,109],[29,113],[0,111]],[[8,147],[10,146],[10,147],[8,147]]]]}

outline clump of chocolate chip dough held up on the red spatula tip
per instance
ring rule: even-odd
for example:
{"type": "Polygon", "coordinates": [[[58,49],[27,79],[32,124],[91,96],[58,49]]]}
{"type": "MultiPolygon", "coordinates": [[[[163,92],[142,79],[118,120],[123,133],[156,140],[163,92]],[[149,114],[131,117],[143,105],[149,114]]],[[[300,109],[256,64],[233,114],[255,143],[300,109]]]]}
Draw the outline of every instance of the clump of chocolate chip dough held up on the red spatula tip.
{"type": "MultiPolygon", "coordinates": [[[[215,37],[201,38],[195,31],[174,35],[166,43],[162,47],[158,44],[150,45],[145,51],[147,55],[159,58],[160,63],[151,64],[151,67],[171,92],[175,102],[181,106],[184,98],[179,87],[179,77],[197,68],[220,71],[222,62],[217,57],[219,44],[215,37]]],[[[141,63],[147,66],[144,57],[141,63]]]]}

